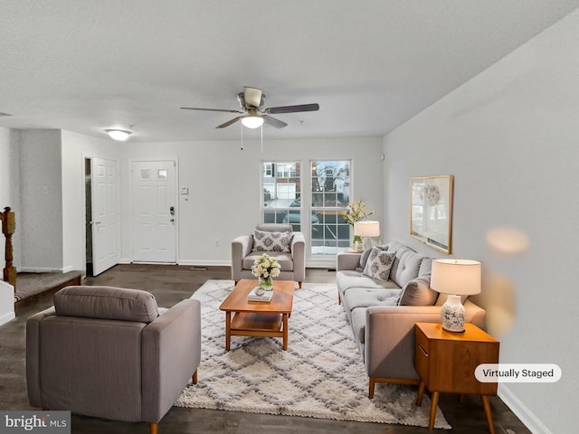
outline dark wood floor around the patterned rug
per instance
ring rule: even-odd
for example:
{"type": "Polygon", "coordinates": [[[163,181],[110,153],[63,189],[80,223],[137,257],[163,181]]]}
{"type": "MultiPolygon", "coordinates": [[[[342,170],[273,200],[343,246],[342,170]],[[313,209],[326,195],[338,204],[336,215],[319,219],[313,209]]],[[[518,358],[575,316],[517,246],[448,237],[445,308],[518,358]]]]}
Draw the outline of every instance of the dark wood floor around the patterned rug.
{"type": "MultiPolygon", "coordinates": [[[[171,307],[183,298],[191,297],[209,278],[231,278],[228,267],[198,269],[186,266],[118,265],[96,278],[86,278],[85,285],[109,285],[146,289],[157,297],[160,307],[171,307]]],[[[326,269],[308,269],[307,282],[334,282],[336,275],[326,269]]],[[[27,401],[24,375],[24,330],[28,316],[52,305],[51,297],[38,297],[18,312],[14,321],[0,327],[0,408],[3,410],[33,410],[27,401]]],[[[380,387],[378,384],[376,387],[380,387]]],[[[530,431],[517,420],[497,397],[490,400],[497,434],[527,434],[530,431]]],[[[460,403],[455,395],[441,394],[442,412],[456,434],[477,434],[488,431],[479,397],[466,396],[460,403]]],[[[159,423],[159,433],[327,433],[353,432],[365,434],[418,434],[429,429],[385,425],[378,423],[316,420],[289,416],[253,413],[197,410],[174,407],[159,423]]],[[[74,433],[147,434],[145,423],[127,423],[72,415],[74,433]]],[[[443,432],[439,430],[439,432],[443,432]]]]}

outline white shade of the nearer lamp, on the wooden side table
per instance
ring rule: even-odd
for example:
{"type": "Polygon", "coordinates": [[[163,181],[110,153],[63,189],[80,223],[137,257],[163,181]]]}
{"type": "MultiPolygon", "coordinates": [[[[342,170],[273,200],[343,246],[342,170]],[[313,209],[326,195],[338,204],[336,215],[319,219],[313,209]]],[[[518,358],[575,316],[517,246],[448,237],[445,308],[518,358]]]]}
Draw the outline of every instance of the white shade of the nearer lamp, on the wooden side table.
{"type": "Polygon", "coordinates": [[[480,262],[470,259],[432,260],[431,288],[457,296],[479,294],[480,262]]]}

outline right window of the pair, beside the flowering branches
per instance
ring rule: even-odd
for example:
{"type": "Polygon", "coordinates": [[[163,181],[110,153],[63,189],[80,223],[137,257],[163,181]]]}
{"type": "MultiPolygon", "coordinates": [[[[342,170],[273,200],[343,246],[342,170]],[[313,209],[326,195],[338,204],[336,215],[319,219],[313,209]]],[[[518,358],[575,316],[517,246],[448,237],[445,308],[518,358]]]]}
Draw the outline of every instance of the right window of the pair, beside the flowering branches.
{"type": "Polygon", "coordinates": [[[336,255],[346,250],[350,227],[342,212],[350,200],[350,161],[312,161],[311,195],[312,256],[336,255]]]}

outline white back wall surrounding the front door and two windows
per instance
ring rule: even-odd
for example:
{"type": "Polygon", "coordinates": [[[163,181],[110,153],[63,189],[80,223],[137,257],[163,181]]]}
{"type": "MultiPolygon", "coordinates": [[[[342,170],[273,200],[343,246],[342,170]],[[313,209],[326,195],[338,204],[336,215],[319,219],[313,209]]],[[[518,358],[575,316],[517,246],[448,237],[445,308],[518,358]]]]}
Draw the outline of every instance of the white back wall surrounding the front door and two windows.
{"type": "MultiPolygon", "coordinates": [[[[266,133],[264,132],[264,135],[266,133]]],[[[126,143],[122,156],[122,203],[130,202],[130,160],[138,158],[178,159],[179,187],[189,189],[189,200],[180,198],[177,207],[181,264],[229,265],[231,241],[251,233],[260,222],[261,161],[302,162],[304,197],[308,197],[310,159],[351,159],[353,198],[363,199],[381,219],[383,209],[382,139],[352,137],[337,139],[265,139],[259,141],[126,143]],[[218,240],[218,246],[215,246],[218,240]]],[[[374,217],[373,217],[374,218],[374,217]]],[[[122,254],[130,260],[130,215],[123,212],[122,254]]],[[[328,263],[334,266],[335,261],[328,263]]]]}

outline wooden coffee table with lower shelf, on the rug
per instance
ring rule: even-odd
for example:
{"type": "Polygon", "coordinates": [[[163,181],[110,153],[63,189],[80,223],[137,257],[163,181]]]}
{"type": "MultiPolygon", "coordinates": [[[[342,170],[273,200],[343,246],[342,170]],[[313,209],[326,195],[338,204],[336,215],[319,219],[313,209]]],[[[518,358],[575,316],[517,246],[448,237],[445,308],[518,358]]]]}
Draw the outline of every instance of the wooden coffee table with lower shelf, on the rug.
{"type": "Polygon", "coordinates": [[[270,302],[247,301],[247,295],[257,286],[257,279],[240,280],[219,307],[225,311],[225,350],[229,351],[231,336],[282,337],[283,349],[287,350],[295,285],[293,280],[274,280],[270,302]]]}

